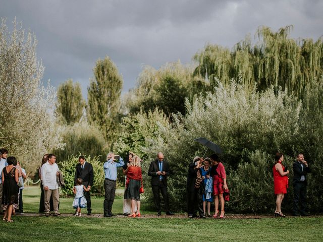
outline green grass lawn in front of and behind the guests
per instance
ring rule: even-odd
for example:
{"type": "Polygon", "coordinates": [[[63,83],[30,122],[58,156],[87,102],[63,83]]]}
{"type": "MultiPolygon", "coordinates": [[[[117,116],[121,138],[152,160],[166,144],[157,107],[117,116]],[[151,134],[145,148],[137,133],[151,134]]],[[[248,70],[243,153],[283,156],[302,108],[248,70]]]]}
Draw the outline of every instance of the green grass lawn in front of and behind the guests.
{"type": "MultiPolygon", "coordinates": [[[[37,212],[39,188],[26,188],[23,199],[26,212],[37,212]]],[[[72,201],[61,198],[60,211],[72,213],[72,201]]],[[[92,201],[93,212],[103,213],[103,199],[92,201]]],[[[122,201],[115,200],[114,213],[122,212],[122,201]]],[[[323,241],[321,217],[204,220],[14,216],[13,219],[14,223],[0,221],[0,241],[323,241]]]]}

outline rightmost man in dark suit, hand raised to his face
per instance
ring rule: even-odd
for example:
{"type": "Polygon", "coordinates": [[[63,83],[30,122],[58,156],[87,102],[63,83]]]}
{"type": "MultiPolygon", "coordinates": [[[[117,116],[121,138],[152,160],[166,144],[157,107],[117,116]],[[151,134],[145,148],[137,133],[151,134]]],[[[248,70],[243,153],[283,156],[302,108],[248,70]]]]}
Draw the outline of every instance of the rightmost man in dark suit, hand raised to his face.
{"type": "Polygon", "coordinates": [[[307,179],[306,175],[310,172],[306,160],[304,160],[304,155],[299,153],[296,157],[296,161],[293,164],[294,178],[293,178],[293,187],[294,187],[294,216],[306,216],[306,187],[307,179]],[[299,209],[300,202],[300,209],[299,209]],[[300,212],[300,213],[299,213],[300,212]]]}

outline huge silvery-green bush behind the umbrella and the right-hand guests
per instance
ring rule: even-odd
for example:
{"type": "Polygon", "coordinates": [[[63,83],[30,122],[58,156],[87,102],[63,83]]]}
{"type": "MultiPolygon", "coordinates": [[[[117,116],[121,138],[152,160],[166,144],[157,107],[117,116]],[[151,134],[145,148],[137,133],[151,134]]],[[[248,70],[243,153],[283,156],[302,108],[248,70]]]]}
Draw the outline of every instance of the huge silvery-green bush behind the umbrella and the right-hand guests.
{"type": "MultiPolygon", "coordinates": [[[[298,152],[315,173],[310,174],[308,195],[311,211],[320,211],[322,199],[321,168],[323,85],[314,83],[308,89],[308,100],[302,102],[287,92],[267,89],[246,90],[240,81],[227,88],[218,82],[214,93],[186,102],[186,115],[174,115],[171,129],[163,129],[157,143],[149,147],[149,157],[161,151],[169,160],[173,175],[169,193],[173,208],[185,210],[187,167],[195,155],[202,156],[205,147],[194,141],[206,137],[223,149],[221,159],[227,170],[232,201],[227,204],[235,212],[265,212],[275,208],[272,167],[277,151],[285,154],[285,164],[291,171],[290,189],[283,209],[291,209],[293,199],[292,163],[298,152]]],[[[206,156],[212,152],[208,151],[206,156]]],[[[147,161],[148,163],[149,161],[147,161]]],[[[146,164],[145,164],[146,165],[146,164]]],[[[149,179],[147,179],[149,180],[149,179]]],[[[147,182],[147,181],[146,181],[147,182]]],[[[148,185],[148,184],[146,184],[148,185]]],[[[148,190],[149,191],[149,190],[148,190]]],[[[146,194],[146,197],[151,194],[146,194]]],[[[152,200],[148,200],[152,205],[152,200]]]]}

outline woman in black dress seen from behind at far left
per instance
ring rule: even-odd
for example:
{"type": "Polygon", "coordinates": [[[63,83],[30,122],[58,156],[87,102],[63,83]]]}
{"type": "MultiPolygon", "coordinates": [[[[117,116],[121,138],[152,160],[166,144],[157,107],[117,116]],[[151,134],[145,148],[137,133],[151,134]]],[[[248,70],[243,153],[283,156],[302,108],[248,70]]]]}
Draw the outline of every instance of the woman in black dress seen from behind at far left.
{"type": "Polygon", "coordinates": [[[8,166],[6,166],[2,171],[2,209],[6,210],[3,220],[7,222],[13,222],[14,220],[11,219],[12,210],[18,208],[19,171],[13,165],[13,163],[17,163],[16,157],[8,157],[7,163],[8,166]]]}

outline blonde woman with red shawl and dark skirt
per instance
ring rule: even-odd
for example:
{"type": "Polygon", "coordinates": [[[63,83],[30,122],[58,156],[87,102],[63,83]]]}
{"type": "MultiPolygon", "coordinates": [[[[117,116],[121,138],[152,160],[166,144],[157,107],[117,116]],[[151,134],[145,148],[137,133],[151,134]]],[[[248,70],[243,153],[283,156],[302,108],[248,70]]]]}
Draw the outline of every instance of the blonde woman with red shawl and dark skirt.
{"type": "Polygon", "coordinates": [[[124,171],[127,174],[127,192],[125,199],[131,199],[131,211],[129,217],[140,217],[140,188],[142,186],[141,160],[138,156],[133,156],[132,162],[128,163],[127,169],[124,171]],[[137,212],[136,212],[137,205],[137,212]]]}

